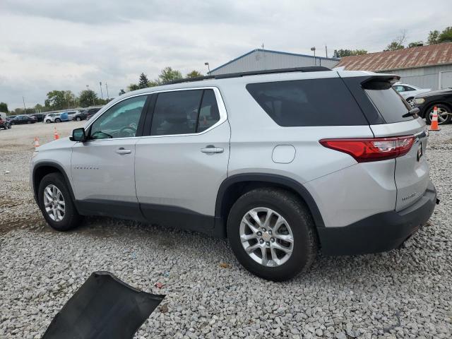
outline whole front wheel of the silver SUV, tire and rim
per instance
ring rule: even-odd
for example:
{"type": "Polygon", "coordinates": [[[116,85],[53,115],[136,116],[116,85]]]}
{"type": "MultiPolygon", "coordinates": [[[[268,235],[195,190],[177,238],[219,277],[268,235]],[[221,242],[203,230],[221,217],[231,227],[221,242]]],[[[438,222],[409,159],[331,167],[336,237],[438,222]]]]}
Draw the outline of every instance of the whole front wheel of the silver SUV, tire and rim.
{"type": "Polygon", "coordinates": [[[37,194],[42,215],[54,230],[68,231],[80,224],[83,217],[78,214],[61,174],[50,173],[42,178],[37,194]]]}

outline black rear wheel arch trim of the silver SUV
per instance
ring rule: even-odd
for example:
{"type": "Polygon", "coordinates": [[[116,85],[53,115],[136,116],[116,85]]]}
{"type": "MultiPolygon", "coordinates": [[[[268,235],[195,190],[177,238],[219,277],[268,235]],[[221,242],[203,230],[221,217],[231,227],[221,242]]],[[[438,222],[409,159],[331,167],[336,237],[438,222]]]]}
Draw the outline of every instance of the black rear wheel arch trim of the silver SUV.
{"type": "Polygon", "coordinates": [[[237,201],[237,198],[247,191],[251,191],[251,189],[268,186],[285,189],[299,196],[306,203],[316,227],[325,227],[319,207],[309,191],[302,184],[289,177],[266,173],[235,174],[222,182],[218,189],[217,200],[215,202],[216,227],[224,230],[224,234],[226,234],[227,215],[234,202],[237,201]]]}

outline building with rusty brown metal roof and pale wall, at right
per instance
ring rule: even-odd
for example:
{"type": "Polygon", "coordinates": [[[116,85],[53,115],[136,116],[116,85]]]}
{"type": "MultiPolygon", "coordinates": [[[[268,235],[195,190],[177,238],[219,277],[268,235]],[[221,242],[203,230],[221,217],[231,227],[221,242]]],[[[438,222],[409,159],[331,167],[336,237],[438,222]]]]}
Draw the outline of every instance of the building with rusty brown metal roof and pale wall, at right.
{"type": "Polygon", "coordinates": [[[396,73],[403,83],[421,88],[452,87],[452,42],[343,57],[347,71],[396,73]]]}

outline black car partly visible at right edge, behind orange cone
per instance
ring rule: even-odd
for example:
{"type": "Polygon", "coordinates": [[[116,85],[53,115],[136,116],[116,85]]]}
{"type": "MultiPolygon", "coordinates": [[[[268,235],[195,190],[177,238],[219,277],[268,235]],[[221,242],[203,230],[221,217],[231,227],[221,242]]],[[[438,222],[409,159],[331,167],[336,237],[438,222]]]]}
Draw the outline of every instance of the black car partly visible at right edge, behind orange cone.
{"type": "Polygon", "coordinates": [[[416,95],[416,106],[420,109],[420,117],[425,118],[427,124],[432,122],[433,109],[438,107],[438,124],[448,124],[452,119],[452,88],[433,90],[432,92],[416,95]]]}

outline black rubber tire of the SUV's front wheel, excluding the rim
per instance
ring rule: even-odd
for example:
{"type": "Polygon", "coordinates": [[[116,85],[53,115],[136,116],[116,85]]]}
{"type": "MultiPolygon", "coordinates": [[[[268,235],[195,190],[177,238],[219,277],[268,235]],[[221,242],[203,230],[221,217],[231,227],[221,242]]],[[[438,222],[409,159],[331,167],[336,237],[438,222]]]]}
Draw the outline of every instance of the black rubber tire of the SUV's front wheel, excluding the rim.
{"type": "Polygon", "coordinates": [[[42,212],[42,215],[44,216],[44,219],[47,221],[47,224],[49,224],[50,227],[52,227],[54,230],[63,232],[72,230],[74,227],[80,225],[81,221],[83,220],[83,217],[78,214],[76,207],[73,204],[71,194],[69,193],[69,189],[66,186],[64,177],[60,173],[50,173],[42,178],[40,187],[37,190],[37,198],[38,205],[40,206],[40,210],[42,212]],[[44,208],[44,189],[49,184],[57,186],[57,188],[61,191],[61,194],[63,194],[65,212],[63,219],[60,221],[52,220],[52,218],[49,217],[44,208]]]}

